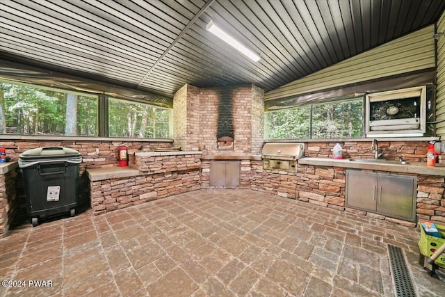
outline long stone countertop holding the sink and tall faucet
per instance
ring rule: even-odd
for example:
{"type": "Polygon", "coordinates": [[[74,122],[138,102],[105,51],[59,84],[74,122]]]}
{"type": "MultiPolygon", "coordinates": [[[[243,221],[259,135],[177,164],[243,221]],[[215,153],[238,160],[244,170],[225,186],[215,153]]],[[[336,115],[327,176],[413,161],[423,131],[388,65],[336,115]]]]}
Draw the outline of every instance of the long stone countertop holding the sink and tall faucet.
{"type": "Polygon", "coordinates": [[[305,157],[298,159],[298,164],[316,165],[316,166],[332,166],[354,169],[380,170],[389,172],[413,173],[417,175],[435,175],[445,177],[445,167],[428,167],[426,163],[407,162],[401,163],[366,163],[366,161],[350,161],[349,159],[329,159],[317,157],[305,157]]]}

